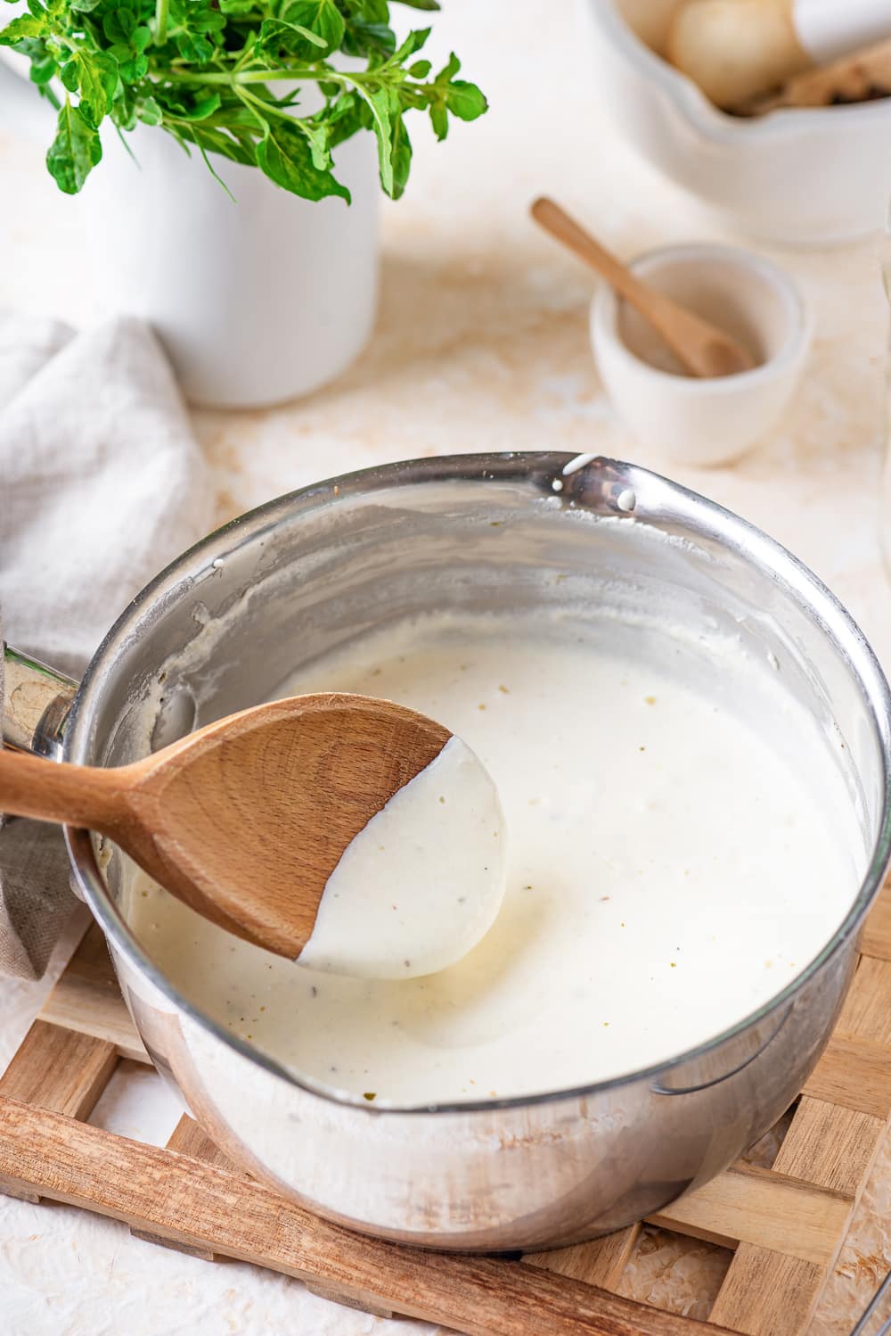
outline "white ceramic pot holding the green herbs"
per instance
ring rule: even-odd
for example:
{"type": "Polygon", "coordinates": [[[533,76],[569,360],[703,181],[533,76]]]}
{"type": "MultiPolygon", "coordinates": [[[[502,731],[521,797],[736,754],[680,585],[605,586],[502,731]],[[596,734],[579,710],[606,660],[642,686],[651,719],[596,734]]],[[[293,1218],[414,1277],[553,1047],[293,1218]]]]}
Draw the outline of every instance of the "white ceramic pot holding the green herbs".
{"type": "Polygon", "coordinates": [[[371,134],[336,151],[352,203],[297,199],[259,170],[164,131],[113,130],[83,192],[96,281],[109,311],[160,335],[193,403],[253,407],[307,394],[359,354],[377,298],[377,162],[371,134]]]}

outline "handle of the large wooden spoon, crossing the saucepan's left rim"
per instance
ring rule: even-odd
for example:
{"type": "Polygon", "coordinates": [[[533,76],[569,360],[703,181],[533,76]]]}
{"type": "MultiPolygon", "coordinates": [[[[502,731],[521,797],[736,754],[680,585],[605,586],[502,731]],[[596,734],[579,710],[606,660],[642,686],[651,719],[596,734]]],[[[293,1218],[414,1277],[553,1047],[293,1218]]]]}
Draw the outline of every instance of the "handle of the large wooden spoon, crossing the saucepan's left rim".
{"type": "Polygon", "coordinates": [[[113,834],[125,810],[125,770],[67,766],[0,748],[0,812],[113,834]]]}

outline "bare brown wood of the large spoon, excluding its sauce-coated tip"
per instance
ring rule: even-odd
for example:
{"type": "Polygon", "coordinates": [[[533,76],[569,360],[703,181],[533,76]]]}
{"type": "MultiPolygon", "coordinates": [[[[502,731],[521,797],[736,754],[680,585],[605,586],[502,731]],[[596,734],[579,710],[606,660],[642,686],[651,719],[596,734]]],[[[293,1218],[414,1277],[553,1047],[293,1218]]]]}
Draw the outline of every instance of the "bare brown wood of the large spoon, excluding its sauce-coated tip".
{"type": "Polygon", "coordinates": [[[351,840],[451,733],[368,696],[292,696],[129,766],[0,748],[0,811],[108,835],[229,933],[296,959],[351,840]]]}

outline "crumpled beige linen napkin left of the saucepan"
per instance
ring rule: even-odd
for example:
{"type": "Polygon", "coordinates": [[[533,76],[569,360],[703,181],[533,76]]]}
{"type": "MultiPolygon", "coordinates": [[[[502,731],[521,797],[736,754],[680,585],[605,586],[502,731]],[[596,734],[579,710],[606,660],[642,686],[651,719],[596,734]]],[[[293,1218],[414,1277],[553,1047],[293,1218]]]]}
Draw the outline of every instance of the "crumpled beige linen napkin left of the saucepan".
{"type": "MultiPolygon", "coordinates": [[[[209,521],[204,461],[148,326],[77,334],[0,311],[0,636],[77,677],[209,521]]],[[[7,820],[0,971],[39,978],[73,903],[60,832],[7,820]]]]}

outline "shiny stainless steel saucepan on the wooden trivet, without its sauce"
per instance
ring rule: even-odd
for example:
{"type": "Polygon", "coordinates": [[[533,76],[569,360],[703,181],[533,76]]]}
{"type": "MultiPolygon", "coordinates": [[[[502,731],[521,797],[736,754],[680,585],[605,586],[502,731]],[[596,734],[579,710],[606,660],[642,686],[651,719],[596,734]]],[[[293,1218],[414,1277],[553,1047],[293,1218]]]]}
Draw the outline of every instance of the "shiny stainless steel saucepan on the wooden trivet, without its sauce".
{"type": "Polygon", "coordinates": [[[128,929],[123,859],[67,832],[136,1026],[207,1133],[312,1210],[413,1244],[592,1237],[723,1170],[814,1067],[888,862],[888,687],[850,616],[764,534],[643,469],[595,460],[552,489],[567,458],[464,454],[307,488],[160,574],[79,688],[15,655],[7,673],[8,741],[120,764],[412,613],[614,609],[619,628],[671,603],[691,643],[699,628],[726,631],[807,711],[862,842],[862,884],[832,941],[768,1006],[695,1051],[534,1098],[377,1109],[284,1070],[172,986],[128,929]]]}

